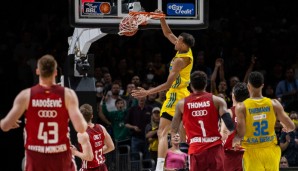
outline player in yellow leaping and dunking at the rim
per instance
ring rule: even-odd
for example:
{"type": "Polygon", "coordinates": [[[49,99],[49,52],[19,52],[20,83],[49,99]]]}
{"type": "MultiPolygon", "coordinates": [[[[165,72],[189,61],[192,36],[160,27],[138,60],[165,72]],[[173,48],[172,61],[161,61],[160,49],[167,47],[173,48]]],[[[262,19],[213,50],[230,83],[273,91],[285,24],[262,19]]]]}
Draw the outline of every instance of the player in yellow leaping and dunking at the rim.
{"type": "MultiPolygon", "coordinates": [[[[149,94],[168,90],[166,100],[163,103],[160,112],[161,118],[158,129],[159,144],[156,171],[162,171],[164,167],[164,161],[168,150],[167,136],[175,113],[175,106],[180,99],[190,94],[187,87],[189,85],[190,73],[193,66],[191,47],[195,44],[194,37],[188,33],[181,33],[176,37],[166,23],[165,18],[161,18],[160,23],[164,36],[175,45],[175,50],[177,50],[175,57],[170,63],[167,81],[149,90],[140,87],[136,90],[132,90],[132,96],[134,97],[145,97],[149,94]]],[[[183,137],[181,138],[183,139],[183,137]]]]}

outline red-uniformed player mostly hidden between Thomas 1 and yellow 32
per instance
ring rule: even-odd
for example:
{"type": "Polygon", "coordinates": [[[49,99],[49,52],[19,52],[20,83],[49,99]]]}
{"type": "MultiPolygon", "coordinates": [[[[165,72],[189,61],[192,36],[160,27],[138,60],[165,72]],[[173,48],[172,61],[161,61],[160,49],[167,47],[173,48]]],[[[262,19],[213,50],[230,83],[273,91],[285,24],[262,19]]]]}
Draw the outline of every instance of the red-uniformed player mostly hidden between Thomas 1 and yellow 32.
{"type": "MultiPolygon", "coordinates": [[[[238,103],[243,102],[247,98],[249,98],[249,92],[248,92],[246,83],[244,82],[237,83],[232,89],[233,106],[229,109],[229,113],[232,115],[231,117],[235,126],[237,126],[237,123],[235,122],[236,120],[235,106],[238,103]]],[[[222,124],[221,135],[222,135],[222,139],[225,140],[224,168],[227,171],[243,170],[242,157],[243,157],[244,149],[240,147],[237,149],[233,148],[232,142],[235,134],[236,134],[236,130],[229,134],[229,131],[227,131],[225,124],[222,124]]]]}

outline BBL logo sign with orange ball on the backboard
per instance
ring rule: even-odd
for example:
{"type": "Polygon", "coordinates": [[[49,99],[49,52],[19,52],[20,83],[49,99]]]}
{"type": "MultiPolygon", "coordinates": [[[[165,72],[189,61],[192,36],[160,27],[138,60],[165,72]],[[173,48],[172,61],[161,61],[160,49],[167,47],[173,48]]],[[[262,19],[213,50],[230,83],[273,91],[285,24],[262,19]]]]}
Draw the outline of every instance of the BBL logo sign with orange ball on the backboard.
{"type": "Polygon", "coordinates": [[[84,15],[110,14],[111,5],[108,2],[86,2],[84,3],[84,15]]]}

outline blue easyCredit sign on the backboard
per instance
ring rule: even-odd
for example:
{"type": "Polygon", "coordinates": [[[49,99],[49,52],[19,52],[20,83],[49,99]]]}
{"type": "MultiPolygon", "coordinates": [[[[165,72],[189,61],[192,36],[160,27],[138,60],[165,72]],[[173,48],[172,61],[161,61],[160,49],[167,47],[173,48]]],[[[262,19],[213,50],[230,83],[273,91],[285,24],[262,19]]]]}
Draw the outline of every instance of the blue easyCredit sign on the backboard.
{"type": "Polygon", "coordinates": [[[168,3],[167,15],[194,16],[194,4],[192,3],[168,3]]]}

